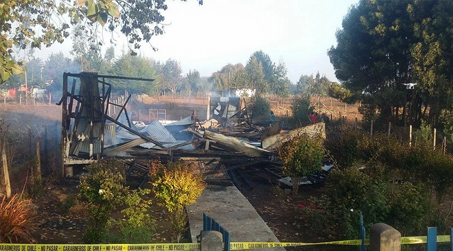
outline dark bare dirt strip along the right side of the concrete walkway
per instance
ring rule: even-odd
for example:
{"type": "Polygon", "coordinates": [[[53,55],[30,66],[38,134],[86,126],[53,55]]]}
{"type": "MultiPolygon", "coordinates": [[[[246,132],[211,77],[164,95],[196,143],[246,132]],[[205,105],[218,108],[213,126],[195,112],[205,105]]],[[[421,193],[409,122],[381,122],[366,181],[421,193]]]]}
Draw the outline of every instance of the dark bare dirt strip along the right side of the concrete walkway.
{"type": "MultiPolygon", "coordinates": [[[[286,195],[285,187],[275,184],[275,176],[263,169],[246,169],[240,171],[253,184],[253,188],[239,179],[239,190],[249,200],[258,214],[267,223],[281,242],[323,242],[343,240],[338,236],[320,236],[309,228],[310,222],[303,218],[298,204],[303,204],[310,196],[320,196],[324,188],[312,185],[301,186],[298,194],[286,195]],[[272,199],[270,199],[272,198],[272,199]]],[[[355,246],[322,245],[285,247],[288,251],[323,250],[347,251],[357,250],[355,246]]]]}

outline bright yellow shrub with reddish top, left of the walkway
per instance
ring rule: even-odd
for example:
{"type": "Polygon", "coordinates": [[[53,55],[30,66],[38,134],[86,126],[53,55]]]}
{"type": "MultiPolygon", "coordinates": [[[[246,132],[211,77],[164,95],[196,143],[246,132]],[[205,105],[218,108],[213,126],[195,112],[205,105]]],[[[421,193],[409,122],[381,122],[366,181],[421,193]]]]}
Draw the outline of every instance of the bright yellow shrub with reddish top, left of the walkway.
{"type": "Polygon", "coordinates": [[[195,203],[206,184],[200,173],[183,162],[167,165],[153,162],[149,177],[159,204],[168,212],[174,237],[179,242],[187,222],[185,208],[195,203]]]}

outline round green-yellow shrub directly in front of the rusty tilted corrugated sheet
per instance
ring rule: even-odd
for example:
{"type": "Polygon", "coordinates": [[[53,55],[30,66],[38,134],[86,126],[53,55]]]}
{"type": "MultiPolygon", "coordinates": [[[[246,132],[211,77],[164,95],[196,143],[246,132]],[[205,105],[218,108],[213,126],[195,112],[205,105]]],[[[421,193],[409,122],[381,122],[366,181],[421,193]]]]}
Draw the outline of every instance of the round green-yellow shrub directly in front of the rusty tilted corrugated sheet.
{"type": "Polygon", "coordinates": [[[283,173],[291,177],[292,190],[297,194],[300,178],[312,175],[322,166],[324,148],[321,139],[312,139],[303,134],[277,147],[283,162],[283,173]]]}

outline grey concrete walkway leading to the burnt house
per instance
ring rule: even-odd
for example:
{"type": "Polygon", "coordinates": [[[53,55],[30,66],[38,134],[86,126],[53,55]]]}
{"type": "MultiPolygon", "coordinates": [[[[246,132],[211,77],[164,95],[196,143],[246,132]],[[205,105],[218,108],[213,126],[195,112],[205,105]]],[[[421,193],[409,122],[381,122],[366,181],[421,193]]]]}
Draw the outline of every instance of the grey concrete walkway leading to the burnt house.
{"type": "MultiPolygon", "coordinates": [[[[217,221],[231,234],[231,241],[279,242],[252,204],[235,186],[208,185],[197,203],[188,208],[192,241],[203,228],[203,212],[217,221]]],[[[280,248],[254,249],[262,251],[280,248]]]]}

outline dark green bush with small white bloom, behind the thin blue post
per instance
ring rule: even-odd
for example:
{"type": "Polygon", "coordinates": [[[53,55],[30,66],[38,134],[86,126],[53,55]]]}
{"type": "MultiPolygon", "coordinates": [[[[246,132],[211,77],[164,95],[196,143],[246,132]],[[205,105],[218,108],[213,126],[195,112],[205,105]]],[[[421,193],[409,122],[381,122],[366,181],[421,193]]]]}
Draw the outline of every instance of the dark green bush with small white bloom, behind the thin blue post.
{"type": "Polygon", "coordinates": [[[319,199],[311,198],[311,208],[303,213],[309,221],[324,224],[325,233],[335,231],[348,238],[359,236],[359,214],[364,212],[365,227],[382,222],[388,214],[387,186],[357,168],[333,170],[326,183],[326,193],[319,199]],[[313,210],[316,208],[318,210],[313,210]],[[321,216],[322,214],[322,216],[321,216]],[[319,217],[322,217],[321,221],[319,217]]]}

